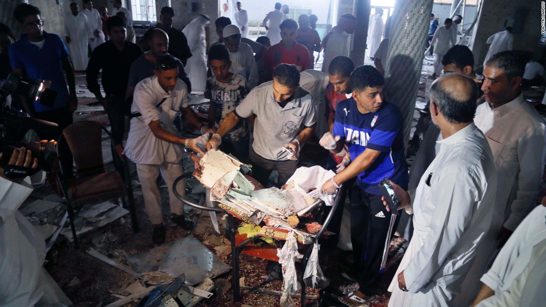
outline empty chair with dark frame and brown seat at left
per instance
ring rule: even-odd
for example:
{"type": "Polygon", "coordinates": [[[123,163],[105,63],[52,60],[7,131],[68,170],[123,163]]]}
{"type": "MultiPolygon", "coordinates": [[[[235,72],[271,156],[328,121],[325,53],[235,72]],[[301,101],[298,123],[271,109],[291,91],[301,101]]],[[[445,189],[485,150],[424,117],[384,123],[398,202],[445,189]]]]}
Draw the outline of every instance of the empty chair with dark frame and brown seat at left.
{"type": "MultiPolygon", "coordinates": [[[[102,153],[102,131],[108,135],[110,132],[96,122],[82,121],[69,125],[63,130],[57,142],[57,155],[62,159],[63,146],[68,146],[74,158],[76,174],[68,176],[61,171],[57,172],[57,180],[61,185],[64,198],[67,203],[68,218],[72,227],[74,247],[78,249],[78,239],[74,227],[76,212],[85,204],[100,203],[114,198],[121,198],[123,207],[126,208],[125,197],[128,198],[129,212],[131,216],[133,232],[138,233],[136,220],[136,208],[133,198],[133,188],[130,183],[128,162],[124,162],[125,182],[116,171],[106,172],[102,153]],[[65,142],[66,141],[66,142],[65,142]],[[60,150],[61,149],[61,150],[60,150]]],[[[111,143],[113,148],[113,143],[111,143]]],[[[115,152],[115,151],[114,151],[115,152]]],[[[114,159],[120,159],[117,155],[114,159]]]]}

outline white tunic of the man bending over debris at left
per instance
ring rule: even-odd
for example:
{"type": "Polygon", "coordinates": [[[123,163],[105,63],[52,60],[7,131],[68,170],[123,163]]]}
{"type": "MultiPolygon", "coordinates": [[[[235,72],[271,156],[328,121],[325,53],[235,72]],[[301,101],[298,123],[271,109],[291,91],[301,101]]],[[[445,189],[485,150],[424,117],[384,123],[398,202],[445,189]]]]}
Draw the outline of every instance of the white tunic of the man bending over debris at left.
{"type": "Polygon", "coordinates": [[[177,80],[173,91],[165,93],[156,76],[140,81],[133,94],[131,113],[140,112],[142,116],[131,119],[127,145],[123,154],[136,164],[180,163],[183,146],[159,140],[150,129],[152,121],[160,121],[161,127],[178,135],[173,126],[180,107],[188,106],[186,83],[177,80]],[[156,107],[163,98],[167,98],[156,107]]]}

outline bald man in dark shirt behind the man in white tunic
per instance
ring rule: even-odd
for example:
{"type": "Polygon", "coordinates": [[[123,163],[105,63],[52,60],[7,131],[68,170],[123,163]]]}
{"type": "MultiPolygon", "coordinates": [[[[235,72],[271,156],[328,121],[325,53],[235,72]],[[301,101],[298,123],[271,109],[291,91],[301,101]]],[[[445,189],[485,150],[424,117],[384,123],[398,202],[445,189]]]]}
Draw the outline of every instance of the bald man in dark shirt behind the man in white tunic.
{"type": "MultiPolygon", "coordinates": [[[[169,35],[167,35],[165,31],[159,28],[152,29],[147,39],[148,43],[150,44],[150,50],[144,52],[144,54],[137,58],[131,65],[125,99],[129,99],[133,95],[135,87],[140,81],[153,76],[153,70],[156,67],[157,58],[168,54],[167,50],[169,50],[169,35]]],[[[186,75],[186,71],[184,70],[182,63],[179,63],[178,79],[186,83],[188,93],[191,92],[192,85],[189,82],[189,78],[186,75]]],[[[202,131],[207,129],[206,126],[199,121],[197,115],[195,115],[195,112],[193,112],[189,106],[182,107],[181,110],[183,113],[182,115],[185,116],[186,119],[188,119],[188,121],[197,129],[202,131]]]]}

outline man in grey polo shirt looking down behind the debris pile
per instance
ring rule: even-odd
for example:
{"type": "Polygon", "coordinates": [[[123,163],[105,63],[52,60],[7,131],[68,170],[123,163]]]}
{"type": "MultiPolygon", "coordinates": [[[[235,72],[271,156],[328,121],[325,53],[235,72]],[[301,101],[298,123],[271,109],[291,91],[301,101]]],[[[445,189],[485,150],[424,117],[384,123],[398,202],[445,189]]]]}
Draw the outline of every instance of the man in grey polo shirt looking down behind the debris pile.
{"type": "Polygon", "coordinates": [[[241,119],[256,115],[250,154],[252,176],[267,186],[269,175],[276,170],[278,182],[275,185],[285,184],[294,174],[301,146],[313,135],[317,122],[313,98],[299,87],[299,82],[300,73],[295,65],[278,65],[273,81],[254,88],[224,118],[216,134],[207,142],[207,150],[216,149],[222,136],[241,119]]]}

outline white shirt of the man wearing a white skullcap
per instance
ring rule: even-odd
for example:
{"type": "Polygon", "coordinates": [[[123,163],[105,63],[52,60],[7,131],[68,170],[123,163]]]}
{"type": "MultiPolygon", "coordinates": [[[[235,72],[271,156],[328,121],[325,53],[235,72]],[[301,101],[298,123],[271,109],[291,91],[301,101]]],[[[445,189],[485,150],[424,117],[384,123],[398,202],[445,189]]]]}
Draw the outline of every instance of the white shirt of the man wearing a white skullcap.
{"type": "Polygon", "coordinates": [[[229,68],[229,71],[236,75],[245,77],[248,87],[251,89],[258,85],[258,67],[256,65],[256,61],[254,60],[254,53],[252,52],[252,48],[250,46],[245,43],[241,43],[237,52],[229,52],[229,59],[232,60],[232,67],[229,68]]]}

